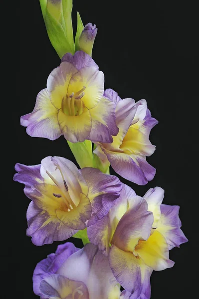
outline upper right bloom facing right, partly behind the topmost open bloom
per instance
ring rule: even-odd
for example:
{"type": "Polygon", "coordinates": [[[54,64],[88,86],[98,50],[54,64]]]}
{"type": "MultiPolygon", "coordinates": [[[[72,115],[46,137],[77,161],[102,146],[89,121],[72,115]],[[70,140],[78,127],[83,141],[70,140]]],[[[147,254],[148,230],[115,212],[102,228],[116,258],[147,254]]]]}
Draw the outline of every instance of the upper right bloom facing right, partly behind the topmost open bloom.
{"type": "Polygon", "coordinates": [[[97,143],[94,153],[124,178],[145,185],[156,173],[156,169],[146,161],[146,156],[155,150],[149,134],[158,122],[151,117],[146,100],[137,103],[131,98],[121,100],[112,89],[105,90],[104,96],[116,104],[119,133],[113,137],[111,144],[97,143]]]}

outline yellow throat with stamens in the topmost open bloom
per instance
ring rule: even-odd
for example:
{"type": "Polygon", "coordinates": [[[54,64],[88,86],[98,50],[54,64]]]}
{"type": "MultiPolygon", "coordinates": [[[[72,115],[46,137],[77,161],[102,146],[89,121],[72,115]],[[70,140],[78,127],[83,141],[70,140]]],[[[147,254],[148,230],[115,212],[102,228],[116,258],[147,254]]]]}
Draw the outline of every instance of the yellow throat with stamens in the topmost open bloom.
{"type": "Polygon", "coordinates": [[[64,96],[61,104],[63,113],[73,116],[82,114],[84,109],[83,96],[85,89],[86,87],[83,86],[83,88],[76,93],[72,92],[70,95],[67,94],[64,96]]]}

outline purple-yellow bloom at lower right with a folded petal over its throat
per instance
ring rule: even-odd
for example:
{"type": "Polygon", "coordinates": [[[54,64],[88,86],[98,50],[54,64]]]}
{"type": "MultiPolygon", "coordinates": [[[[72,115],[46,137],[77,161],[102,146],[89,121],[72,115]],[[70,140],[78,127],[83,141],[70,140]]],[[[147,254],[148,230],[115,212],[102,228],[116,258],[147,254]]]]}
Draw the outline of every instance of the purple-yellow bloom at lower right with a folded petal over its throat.
{"type": "Polygon", "coordinates": [[[88,228],[91,243],[108,255],[113,275],[132,293],[131,299],[149,299],[153,270],[173,267],[169,250],[187,242],[179,206],[161,204],[164,190],[151,188],[144,198],[123,184],[108,215],[88,228]]]}

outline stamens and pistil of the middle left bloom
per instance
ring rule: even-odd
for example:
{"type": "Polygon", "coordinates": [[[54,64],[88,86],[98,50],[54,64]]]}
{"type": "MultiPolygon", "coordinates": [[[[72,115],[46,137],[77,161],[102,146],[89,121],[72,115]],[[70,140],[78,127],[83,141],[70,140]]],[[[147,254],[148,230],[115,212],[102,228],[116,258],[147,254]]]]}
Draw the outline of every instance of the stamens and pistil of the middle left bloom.
{"type": "Polygon", "coordinates": [[[63,176],[63,172],[61,171],[61,168],[55,164],[55,170],[58,169],[60,171],[61,177],[63,179],[63,186],[60,185],[60,183],[52,176],[52,174],[49,173],[49,171],[46,170],[47,175],[51,178],[51,180],[55,183],[55,185],[57,185],[57,187],[60,189],[61,194],[55,194],[52,193],[52,195],[56,198],[63,198],[63,201],[68,209],[68,212],[71,211],[73,208],[76,207],[75,203],[72,201],[70,194],[68,192],[68,186],[66,184],[65,178],[63,176]]]}

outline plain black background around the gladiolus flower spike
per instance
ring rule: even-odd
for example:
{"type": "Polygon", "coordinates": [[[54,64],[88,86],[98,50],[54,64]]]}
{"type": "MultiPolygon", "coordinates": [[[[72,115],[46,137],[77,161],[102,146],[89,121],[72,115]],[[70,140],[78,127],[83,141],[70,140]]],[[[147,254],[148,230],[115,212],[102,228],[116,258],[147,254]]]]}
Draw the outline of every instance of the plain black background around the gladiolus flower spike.
{"type": "MultiPolygon", "coordinates": [[[[73,1],[74,32],[77,10],[84,24],[92,22],[98,27],[92,57],[105,74],[105,88],[116,90],[121,98],[132,97],[136,101],[145,98],[152,116],[159,120],[150,137],[157,146],[148,158],[157,169],[153,181],[138,186],[119,177],[141,196],[149,188],[161,186],[165,189],[164,203],[181,206],[182,229],[189,243],[170,252],[175,261],[172,269],[152,274],[152,299],[196,297],[192,295],[198,273],[195,274],[199,244],[195,224],[199,200],[196,165],[199,64],[197,9],[193,3],[73,1]]],[[[14,54],[15,98],[11,104],[14,132],[10,139],[11,175],[16,162],[34,165],[48,155],[75,162],[63,137],[56,141],[32,138],[20,126],[20,116],[33,110],[37,93],[46,87],[47,77],[60,59],[48,40],[38,0],[17,1],[16,16],[19,30],[14,54]]],[[[14,298],[36,299],[32,291],[35,265],[64,242],[42,247],[31,243],[31,238],[25,235],[29,199],[23,194],[21,184],[11,183],[13,216],[8,236],[12,245],[4,250],[6,270],[14,280],[15,290],[11,292],[14,298]]],[[[82,246],[77,239],[68,241],[82,246]]]]}

